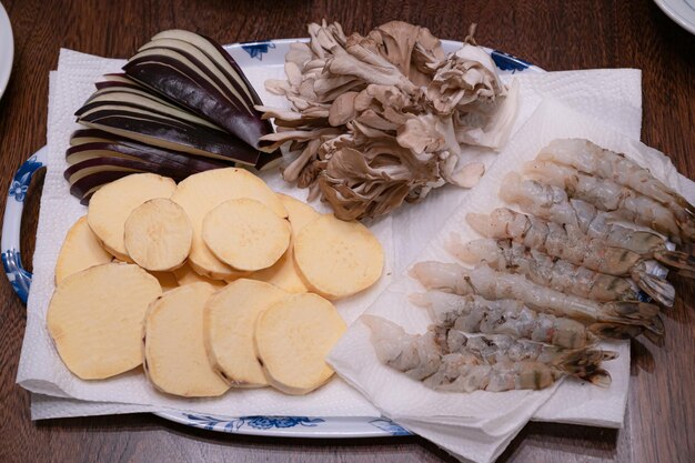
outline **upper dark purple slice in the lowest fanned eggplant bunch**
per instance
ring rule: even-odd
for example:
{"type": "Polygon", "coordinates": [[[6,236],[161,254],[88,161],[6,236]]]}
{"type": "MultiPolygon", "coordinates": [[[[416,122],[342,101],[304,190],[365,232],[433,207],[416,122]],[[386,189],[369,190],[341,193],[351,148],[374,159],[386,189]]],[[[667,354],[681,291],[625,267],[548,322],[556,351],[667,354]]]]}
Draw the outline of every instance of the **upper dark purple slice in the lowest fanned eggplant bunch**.
{"type": "Polygon", "coordinates": [[[173,150],[165,150],[163,148],[149,147],[144,143],[138,143],[132,141],[91,142],[77,144],[70,147],[68,151],[66,151],[66,160],[69,164],[74,164],[74,162],[70,162],[71,157],[79,155],[80,153],[89,151],[102,151],[107,153],[113,152],[114,157],[120,153],[129,158],[137,158],[143,162],[149,162],[155,165],[162,165],[167,169],[180,171],[181,174],[184,177],[211,169],[222,169],[234,165],[233,162],[190,155],[187,153],[173,150]]]}

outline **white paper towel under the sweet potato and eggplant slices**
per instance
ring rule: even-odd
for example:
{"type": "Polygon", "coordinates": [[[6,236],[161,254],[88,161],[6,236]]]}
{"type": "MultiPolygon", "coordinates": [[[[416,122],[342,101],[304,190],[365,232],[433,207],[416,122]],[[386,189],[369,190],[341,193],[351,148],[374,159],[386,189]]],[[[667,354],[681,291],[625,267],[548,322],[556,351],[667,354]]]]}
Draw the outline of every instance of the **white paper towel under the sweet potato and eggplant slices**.
{"type": "MultiPolygon", "coordinates": [[[[184,400],[158,393],[140,370],[109,381],[81,381],[60,361],[46,329],[46,311],[53,292],[53,268],[68,229],[87,209],[69,194],[62,177],[67,164],[64,152],[70,133],[78,128],[74,111],[94,91],[94,82],[103,73],[117,72],[122,60],[107,60],[62,50],[58,71],[51,76],[48,121],[48,171],[41,197],[37,231],[34,274],[27,306],[27,331],[17,381],[23,387],[47,395],[83,401],[115,402],[148,405],[143,411],[187,410],[232,416],[249,414],[294,414],[324,416],[374,416],[379,412],[359,392],[340,379],[308,396],[289,396],[270,387],[232,390],[219,399],[184,400]]],[[[275,191],[304,198],[305,190],[291,188],[276,173],[268,182],[275,191]]],[[[322,204],[318,204],[322,207],[322,204]]],[[[393,262],[391,219],[375,221],[372,231],[384,246],[384,276],[370,290],[336,303],[341,315],[350,323],[362,313],[390,281],[393,262]]],[[[70,407],[63,410],[71,415],[70,407]]]]}

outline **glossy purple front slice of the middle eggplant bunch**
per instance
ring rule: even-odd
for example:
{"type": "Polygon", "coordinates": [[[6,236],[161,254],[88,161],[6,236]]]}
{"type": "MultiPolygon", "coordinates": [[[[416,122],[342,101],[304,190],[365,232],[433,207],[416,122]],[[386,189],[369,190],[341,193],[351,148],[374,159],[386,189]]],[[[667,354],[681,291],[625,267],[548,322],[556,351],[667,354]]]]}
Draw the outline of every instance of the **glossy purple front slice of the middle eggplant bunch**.
{"type": "Polygon", "coordinates": [[[223,132],[183,121],[144,117],[137,112],[122,110],[101,110],[78,118],[78,122],[103,131],[119,130],[139,134],[150,144],[170,148],[181,147],[181,151],[218,159],[231,159],[249,165],[255,165],[259,151],[223,132]],[[189,151],[191,150],[191,151],[189,151]]]}

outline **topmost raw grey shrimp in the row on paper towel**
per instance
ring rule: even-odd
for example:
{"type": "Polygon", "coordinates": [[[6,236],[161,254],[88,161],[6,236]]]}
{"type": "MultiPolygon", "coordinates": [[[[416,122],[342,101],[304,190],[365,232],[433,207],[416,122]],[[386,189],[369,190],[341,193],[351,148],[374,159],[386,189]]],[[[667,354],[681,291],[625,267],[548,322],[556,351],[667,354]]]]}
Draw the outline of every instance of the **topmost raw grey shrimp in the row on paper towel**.
{"type": "Polygon", "coordinates": [[[611,179],[616,183],[666,204],[668,209],[683,209],[694,215],[695,208],[681,194],[666,187],[663,182],[625,154],[605,150],[588,140],[555,140],[541,150],[538,161],[552,161],[571,165],[591,175],[611,179]]]}

